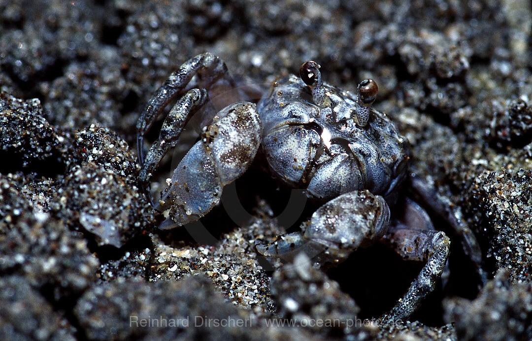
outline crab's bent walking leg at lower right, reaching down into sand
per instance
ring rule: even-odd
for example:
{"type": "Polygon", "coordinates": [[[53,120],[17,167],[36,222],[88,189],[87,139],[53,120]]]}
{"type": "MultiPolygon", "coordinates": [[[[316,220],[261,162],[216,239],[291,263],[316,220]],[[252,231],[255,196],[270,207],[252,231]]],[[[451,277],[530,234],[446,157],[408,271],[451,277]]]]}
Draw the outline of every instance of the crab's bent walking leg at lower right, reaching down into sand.
{"type": "Polygon", "coordinates": [[[434,290],[447,263],[450,240],[440,231],[390,228],[383,237],[404,259],[426,261],[403,298],[383,317],[385,323],[408,318],[434,290]]]}

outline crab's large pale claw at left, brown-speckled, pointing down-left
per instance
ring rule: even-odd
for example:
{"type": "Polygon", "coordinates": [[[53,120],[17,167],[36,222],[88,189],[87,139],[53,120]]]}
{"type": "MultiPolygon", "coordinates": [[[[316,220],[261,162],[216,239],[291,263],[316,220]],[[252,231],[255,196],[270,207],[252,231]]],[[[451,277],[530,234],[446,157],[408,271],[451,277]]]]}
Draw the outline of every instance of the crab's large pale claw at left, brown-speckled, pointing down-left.
{"type": "Polygon", "coordinates": [[[156,210],[170,209],[159,228],[181,226],[207,214],[220,201],[223,186],[251,165],[261,134],[255,104],[239,102],[220,110],[174,170],[156,204],[156,210]]]}

